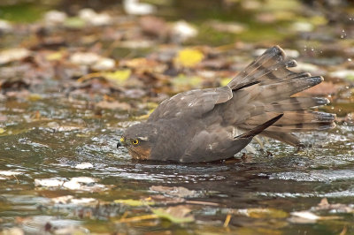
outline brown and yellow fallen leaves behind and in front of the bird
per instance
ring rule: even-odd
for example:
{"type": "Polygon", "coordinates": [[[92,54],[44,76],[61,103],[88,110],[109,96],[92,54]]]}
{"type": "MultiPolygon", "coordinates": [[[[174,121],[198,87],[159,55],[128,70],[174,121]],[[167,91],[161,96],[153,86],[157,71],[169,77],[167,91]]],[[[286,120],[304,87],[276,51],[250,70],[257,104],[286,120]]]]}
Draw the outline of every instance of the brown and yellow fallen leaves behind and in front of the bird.
{"type": "MultiPolygon", "coordinates": [[[[231,2],[227,4],[233,4],[231,2]]],[[[291,11],[292,8],[288,7],[283,13],[281,11],[274,13],[269,8],[260,11],[262,4],[258,1],[239,2],[242,11],[257,10],[252,14],[255,15],[256,21],[264,24],[262,27],[272,22],[281,22],[279,31],[288,34],[289,30],[293,30],[298,38],[304,37],[305,41],[284,42],[279,36],[283,33],[273,35],[273,38],[280,37],[279,41],[286,47],[290,57],[299,57],[299,60],[305,62],[299,63],[298,70],[326,75],[325,82],[307,90],[304,95],[330,94],[328,98],[335,104],[331,111],[339,113],[343,123],[352,125],[354,96],[351,78],[353,66],[350,57],[353,53],[347,50],[348,46],[343,41],[335,42],[332,46],[328,45],[327,39],[333,35],[326,30],[327,19],[316,16],[317,18],[309,20],[292,21],[291,18],[296,16],[291,11]],[[289,28],[282,26],[284,22],[289,23],[287,25],[289,28]],[[312,50],[311,46],[304,49],[304,44],[311,45],[312,38],[316,37],[319,38],[319,42],[315,42],[319,50],[312,50]],[[334,51],[335,54],[347,55],[348,59],[336,62],[335,59],[331,59],[334,51]],[[312,63],[313,61],[316,63],[312,63]],[[349,108],[345,108],[347,106],[349,108]]],[[[22,115],[25,122],[32,123],[33,128],[38,128],[37,130],[44,126],[57,134],[75,133],[75,136],[86,136],[88,129],[84,126],[62,122],[63,117],[59,115],[53,117],[56,115],[53,114],[53,110],[42,109],[42,103],[50,99],[58,101],[58,97],[61,98],[60,104],[76,105],[73,113],[80,113],[86,120],[95,118],[104,120],[105,117],[110,117],[112,112],[128,113],[127,116],[119,116],[118,123],[110,124],[113,128],[116,126],[124,128],[127,123],[131,125],[132,120],[149,117],[149,113],[159,102],[177,92],[191,88],[225,86],[243,65],[250,62],[253,53],[253,56],[256,56],[255,54],[261,53],[264,48],[275,43],[267,40],[250,43],[244,40],[250,38],[252,31],[252,25],[247,23],[212,19],[199,26],[184,19],[139,16],[156,12],[158,8],[143,3],[138,3],[132,8],[132,4],[135,3],[137,2],[124,1],[124,11],[130,16],[115,9],[95,11],[86,8],[70,14],[64,11],[47,11],[41,20],[33,24],[0,20],[1,34],[23,38],[22,42],[13,42],[13,46],[5,46],[6,49],[0,52],[2,74],[0,102],[10,107],[0,109],[0,135],[12,138],[33,132],[30,128],[23,128],[13,115],[16,110],[22,110],[17,115],[22,115]],[[27,34],[32,36],[24,36],[27,34]],[[230,37],[231,34],[236,35],[237,40],[230,37]],[[219,37],[219,44],[199,45],[198,39],[203,37],[205,40],[219,37]],[[233,40],[227,41],[227,37],[233,40]],[[17,102],[16,105],[12,104],[14,101],[17,102]],[[30,108],[34,113],[31,117],[25,117],[27,108],[21,108],[27,105],[27,102],[35,104],[30,108]],[[3,121],[5,125],[2,125],[3,121]]],[[[305,8],[309,7],[306,5],[305,8]]],[[[340,27],[351,27],[340,21],[337,24],[340,27]]],[[[346,32],[350,34],[350,29],[346,32]]],[[[257,34],[259,37],[263,35],[266,34],[262,34],[261,31],[257,34]]],[[[78,160],[73,164],[73,171],[96,171],[97,164],[91,163],[91,160],[78,160]]],[[[24,175],[24,171],[0,171],[0,179],[5,183],[20,175],[24,175]]],[[[114,183],[112,186],[112,183],[107,183],[96,176],[75,176],[61,178],[53,174],[48,178],[31,178],[33,181],[31,184],[35,185],[35,193],[54,193],[55,197],[51,198],[54,205],[47,205],[49,208],[55,208],[58,204],[76,205],[80,207],[75,212],[69,210],[69,214],[74,218],[114,217],[118,224],[142,223],[145,220],[164,223],[159,222],[160,219],[173,224],[190,222],[202,224],[209,223],[212,219],[205,219],[199,214],[203,214],[203,211],[211,214],[213,213],[211,211],[216,211],[215,214],[219,213],[222,217],[222,219],[218,217],[220,227],[232,228],[235,217],[244,216],[258,221],[260,225],[256,224],[255,227],[266,232],[264,229],[266,225],[260,222],[262,220],[287,219],[294,224],[316,224],[323,220],[342,219],[340,216],[333,216],[335,213],[352,214],[353,211],[351,204],[329,204],[325,200],[316,207],[299,211],[238,208],[237,204],[224,206],[222,202],[207,199],[196,201],[203,199],[205,194],[192,187],[154,184],[146,187],[148,196],[140,200],[134,199],[135,194],[132,198],[127,195],[124,199],[114,195],[114,200],[111,197],[111,200],[104,201],[98,200],[96,194],[111,192],[113,188],[119,188],[119,184],[114,183]],[[63,196],[59,193],[70,191],[75,193],[75,196],[71,194],[63,196]],[[81,193],[82,197],[76,193],[81,193]],[[87,196],[87,193],[92,197],[87,196]],[[226,210],[220,212],[219,207],[226,210]],[[322,216],[322,213],[329,216],[322,216]]],[[[0,205],[1,203],[0,201],[0,205]]],[[[19,217],[17,224],[31,224],[31,219],[32,222],[38,222],[41,217],[19,217]]],[[[63,228],[56,227],[55,217],[42,219],[42,225],[38,226],[44,231],[69,234],[85,231],[76,222],[68,223],[69,225],[63,228]]],[[[9,232],[21,234],[24,231],[22,227],[14,227],[9,232]]]]}

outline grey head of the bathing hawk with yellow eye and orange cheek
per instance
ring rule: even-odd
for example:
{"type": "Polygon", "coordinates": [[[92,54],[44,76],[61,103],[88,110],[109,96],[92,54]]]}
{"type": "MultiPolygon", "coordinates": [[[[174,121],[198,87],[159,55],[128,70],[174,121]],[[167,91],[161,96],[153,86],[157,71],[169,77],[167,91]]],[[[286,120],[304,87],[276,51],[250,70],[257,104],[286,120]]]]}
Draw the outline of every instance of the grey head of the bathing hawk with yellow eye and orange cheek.
{"type": "Polygon", "coordinates": [[[151,148],[158,138],[158,128],[149,123],[140,123],[127,128],[117,143],[117,148],[124,146],[134,159],[150,158],[151,148]]]}

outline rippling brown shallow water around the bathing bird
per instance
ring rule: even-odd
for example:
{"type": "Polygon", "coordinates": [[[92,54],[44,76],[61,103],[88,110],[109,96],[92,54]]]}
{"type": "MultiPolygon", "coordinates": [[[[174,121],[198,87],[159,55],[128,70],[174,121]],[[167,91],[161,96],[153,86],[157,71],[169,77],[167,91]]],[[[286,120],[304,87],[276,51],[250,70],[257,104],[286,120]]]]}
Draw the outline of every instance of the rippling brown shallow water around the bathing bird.
{"type": "MultiPolygon", "coordinates": [[[[37,233],[50,223],[59,228],[80,225],[81,230],[87,228],[91,232],[114,229],[128,233],[190,230],[218,233],[226,231],[220,224],[235,209],[272,208],[292,212],[310,209],[324,197],[331,203],[350,204],[354,199],[353,126],[339,125],[329,133],[303,134],[303,140],[312,143],[313,147],[301,151],[270,141],[262,152],[255,144],[256,155],[231,163],[137,163],[124,148],[116,149],[123,131],[120,126],[126,125],[126,120],[115,118],[111,113],[95,117],[86,109],[73,108],[69,101],[60,100],[65,105],[56,103],[59,100],[52,98],[31,103],[4,103],[6,108],[1,110],[1,115],[8,117],[5,127],[8,134],[3,133],[0,137],[2,228],[18,225],[28,233],[37,233]],[[39,119],[30,117],[28,113],[32,110],[39,110],[42,116],[39,119]],[[91,163],[92,168],[75,168],[80,163],[91,163]],[[4,171],[16,174],[6,176],[4,171]],[[96,183],[89,189],[79,190],[35,186],[35,179],[68,182],[77,177],[93,178],[96,183]],[[196,191],[189,201],[215,204],[191,204],[197,223],[138,222],[127,225],[112,220],[129,210],[124,205],[109,203],[100,207],[98,204],[82,206],[50,201],[63,195],[108,202],[140,199],[156,194],[150,191],[150,186],[184,186],[196,191]],[[85,213],[90,216],[82,216],[85,213]],[[30,216],[30,219],[19,223],[18,216],[25,220],[30,216]]],[[[232,226],[227,230],[323,234],[325,231],[340,232],[345,226],[350,228],[351,220],[350,214],[341,214],[337,220],[304,225],[290,223],[287,216],[235,214],[230,221],[232,226]]]]}

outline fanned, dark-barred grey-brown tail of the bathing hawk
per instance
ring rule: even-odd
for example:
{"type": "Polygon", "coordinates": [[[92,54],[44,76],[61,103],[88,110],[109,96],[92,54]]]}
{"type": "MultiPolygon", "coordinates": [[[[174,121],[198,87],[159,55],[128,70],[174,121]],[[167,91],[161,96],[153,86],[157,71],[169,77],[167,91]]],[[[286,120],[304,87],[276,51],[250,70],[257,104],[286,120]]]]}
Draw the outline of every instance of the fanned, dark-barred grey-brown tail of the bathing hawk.
{"type": "Polygon", "coordinates": [[[234,92],[224,114],[227,123],[250,133],[283,114],[260,134],[293,146],[301,144],[293,133],[334,128],[335,114],[311,110],[326,105],[326,98],[293,96],[323,81],[308,72],[289,70],[295,66],[296,61],[286,58],[279,46],[267,49],[227,85],[234,92]]]}

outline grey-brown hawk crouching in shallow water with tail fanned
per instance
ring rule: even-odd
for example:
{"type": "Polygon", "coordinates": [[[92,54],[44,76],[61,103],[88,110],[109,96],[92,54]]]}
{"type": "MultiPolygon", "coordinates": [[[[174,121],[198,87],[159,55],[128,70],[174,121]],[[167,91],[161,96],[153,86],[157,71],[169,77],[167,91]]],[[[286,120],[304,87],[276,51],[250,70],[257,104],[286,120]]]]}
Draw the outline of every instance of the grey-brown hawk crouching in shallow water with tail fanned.
{"type": "Polygon", "coordinates": [[[299,132],[335,127],[335,114],[312,108],[327,98],[297,93],[324,79],[293,72],[296,61],[273,46],[225,87],[181,92],[158,105],[148,119],[128,127],[117,148],[133,159],[208,163],[235,157],[256,136],[300,148],[299,132]]]}

